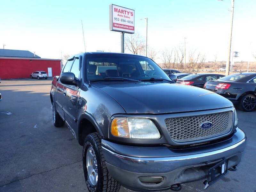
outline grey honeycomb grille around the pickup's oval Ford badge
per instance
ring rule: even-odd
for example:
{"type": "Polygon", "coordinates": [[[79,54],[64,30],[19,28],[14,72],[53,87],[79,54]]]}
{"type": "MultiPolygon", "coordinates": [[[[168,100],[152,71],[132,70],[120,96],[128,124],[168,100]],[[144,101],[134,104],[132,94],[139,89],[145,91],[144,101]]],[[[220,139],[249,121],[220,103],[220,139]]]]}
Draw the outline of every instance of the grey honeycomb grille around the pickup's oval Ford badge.
{"type": "Polygon", "coordinates": [[[219,136],[232,128],[232,111],[199,116],[173,117],[165,119],[172,140],[193,141],[219,136]],[[202,129],[200,124],[211,122],[212,127],[202,129]]]}

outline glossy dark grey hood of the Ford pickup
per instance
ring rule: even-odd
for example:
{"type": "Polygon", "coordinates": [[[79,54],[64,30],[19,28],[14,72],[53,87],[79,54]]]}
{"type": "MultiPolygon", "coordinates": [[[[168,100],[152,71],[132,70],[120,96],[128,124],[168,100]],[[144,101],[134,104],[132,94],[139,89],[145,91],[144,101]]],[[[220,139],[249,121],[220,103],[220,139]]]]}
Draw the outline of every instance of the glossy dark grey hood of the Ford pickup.
{"type": "Polygon", "coordinates": [[[177,113],[232,107],[231,101],[202,88],[164,82],[98,82],[129,114],[177,113]]]}

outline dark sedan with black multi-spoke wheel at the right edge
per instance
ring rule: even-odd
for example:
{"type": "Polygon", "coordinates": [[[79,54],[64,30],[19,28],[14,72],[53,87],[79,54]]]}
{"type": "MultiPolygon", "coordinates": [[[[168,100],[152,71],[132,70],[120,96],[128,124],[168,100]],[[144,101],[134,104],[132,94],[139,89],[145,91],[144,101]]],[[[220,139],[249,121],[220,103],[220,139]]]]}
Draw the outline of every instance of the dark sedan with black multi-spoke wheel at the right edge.
{"type": "Polygon", "coordinates": [[[206,82],[204,88],[238,104],[241,110],[252,111],[256,107],[256,73],[225,76],[216,81],[206,82]]]}

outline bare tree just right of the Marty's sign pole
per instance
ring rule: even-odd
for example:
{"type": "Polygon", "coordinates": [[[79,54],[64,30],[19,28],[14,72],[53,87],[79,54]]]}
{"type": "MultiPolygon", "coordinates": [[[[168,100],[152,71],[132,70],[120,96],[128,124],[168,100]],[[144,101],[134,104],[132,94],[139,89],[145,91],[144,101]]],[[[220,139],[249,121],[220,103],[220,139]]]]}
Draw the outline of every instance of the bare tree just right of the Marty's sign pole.
{"type": "Polygon", "coordinates": [[[125,48],[133,54],[143,54],[145,52],[146,45],[139,33],[128,35],[124,41],[125,48]]]}

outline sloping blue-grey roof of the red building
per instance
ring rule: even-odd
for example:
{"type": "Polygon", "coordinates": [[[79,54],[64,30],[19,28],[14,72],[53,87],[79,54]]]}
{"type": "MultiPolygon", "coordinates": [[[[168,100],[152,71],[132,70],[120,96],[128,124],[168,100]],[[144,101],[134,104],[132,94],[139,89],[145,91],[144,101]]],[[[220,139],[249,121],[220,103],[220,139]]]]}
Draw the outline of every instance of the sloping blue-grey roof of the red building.
{"type": "Polygon", "coordinates": [[[25,57],[25,58],[41,58],[30,51],[0,49],[0,57],[25,57]]]}

